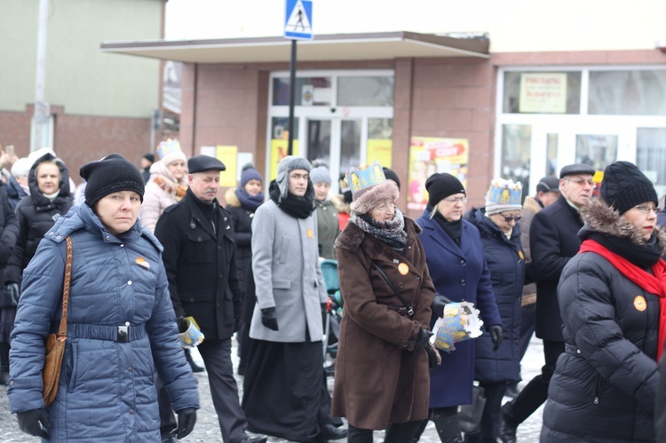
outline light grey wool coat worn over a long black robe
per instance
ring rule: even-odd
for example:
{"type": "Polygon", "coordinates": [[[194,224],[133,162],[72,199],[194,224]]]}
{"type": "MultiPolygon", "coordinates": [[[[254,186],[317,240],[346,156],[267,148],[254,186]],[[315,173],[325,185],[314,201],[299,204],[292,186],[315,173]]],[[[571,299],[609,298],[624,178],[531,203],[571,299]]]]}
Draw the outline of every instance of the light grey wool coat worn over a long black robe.
{"type": "Polygon", "coordinates": [[[269,200],[252,220],[252,271],[257,291],[250,337],[281,343],[321,341],[321,304],[328,300],[319,266],[316,214],[294,218],[269,200]],[[274,307],[277,331],[261,324],[261,309],[274,307]]]}

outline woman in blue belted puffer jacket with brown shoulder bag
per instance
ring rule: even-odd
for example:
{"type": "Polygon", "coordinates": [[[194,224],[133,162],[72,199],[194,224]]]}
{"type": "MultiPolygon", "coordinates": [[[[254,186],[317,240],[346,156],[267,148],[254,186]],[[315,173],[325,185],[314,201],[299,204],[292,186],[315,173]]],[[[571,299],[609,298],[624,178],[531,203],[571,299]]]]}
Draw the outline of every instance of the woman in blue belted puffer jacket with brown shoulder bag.
{"type": "Polygon", "coordinates": [[[144,183],[118,154],[83,166],[85,203],[59,218],[23,273],[7,393],[20,429],[50,441],[160,441],[155,370],[194,428],[196,381],[178,343],[162,246],[142,228],[144,183]],[[71,238],[73,261],[58,395],[42,396],[44,338],[59,327],[71,238]],[[126,334],[123,334],[126,331],[126,334]]]}

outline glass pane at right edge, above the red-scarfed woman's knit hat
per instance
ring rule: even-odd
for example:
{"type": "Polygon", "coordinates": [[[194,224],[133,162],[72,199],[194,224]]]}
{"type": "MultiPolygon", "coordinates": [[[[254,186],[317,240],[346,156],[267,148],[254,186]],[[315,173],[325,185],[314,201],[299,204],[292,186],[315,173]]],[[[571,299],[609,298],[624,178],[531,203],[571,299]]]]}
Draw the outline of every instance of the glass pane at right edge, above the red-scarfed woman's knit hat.
{"type": "Polygon", "coordinates": [[[666,193],[666,128],[638,128],[636,166],[652,180],[661,199],[666,193]]]}

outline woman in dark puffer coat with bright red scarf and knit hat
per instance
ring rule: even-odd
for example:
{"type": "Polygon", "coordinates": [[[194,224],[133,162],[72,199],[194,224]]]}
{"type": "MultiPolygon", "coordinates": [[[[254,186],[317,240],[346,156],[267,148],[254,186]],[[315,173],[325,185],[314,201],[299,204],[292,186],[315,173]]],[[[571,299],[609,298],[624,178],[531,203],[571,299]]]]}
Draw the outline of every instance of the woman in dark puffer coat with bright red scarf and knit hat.
{"type": "Polygon", "coordinates": [[[542,442],[655,441],[654,403],[666,324],[666,230],[657,194],[630,162],[604,172],[583,207],[580,252],[558,298],[565,353],[543,411],[542,442]]]}

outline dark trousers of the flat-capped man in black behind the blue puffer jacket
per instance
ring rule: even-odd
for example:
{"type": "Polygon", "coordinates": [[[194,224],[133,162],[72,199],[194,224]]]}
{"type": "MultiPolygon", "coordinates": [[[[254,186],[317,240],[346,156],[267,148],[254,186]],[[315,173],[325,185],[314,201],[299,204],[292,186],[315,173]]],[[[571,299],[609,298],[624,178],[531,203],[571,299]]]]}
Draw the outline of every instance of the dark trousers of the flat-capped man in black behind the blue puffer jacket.
{"type": "Polygon", "coordinates": [[[231,338],[206,339],[199,344],[199,353],[208,373],[210,395],[218,414],[222,439],[230,443],[242,442],[248,438],[245,433],[248,422],[238,398],[238,385],[231,362],[231,338]]]}

